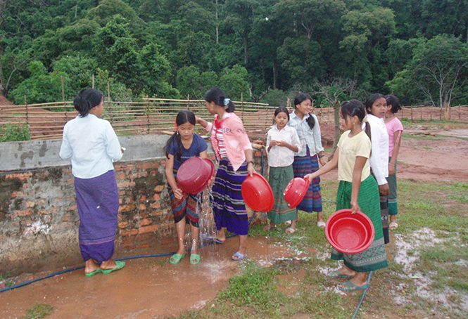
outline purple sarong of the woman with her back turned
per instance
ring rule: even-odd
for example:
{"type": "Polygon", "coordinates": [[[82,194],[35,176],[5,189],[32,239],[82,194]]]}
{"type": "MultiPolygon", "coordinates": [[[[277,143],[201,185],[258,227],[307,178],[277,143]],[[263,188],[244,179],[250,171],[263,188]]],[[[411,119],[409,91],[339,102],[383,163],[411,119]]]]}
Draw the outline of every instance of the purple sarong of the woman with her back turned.
{"type": "Polygon", "coordinates": [[[80,227],[78,239],[84,261],[108,261],[114,254],[119,196],[113,170],[94,178],[75,177],[80,227]]]}

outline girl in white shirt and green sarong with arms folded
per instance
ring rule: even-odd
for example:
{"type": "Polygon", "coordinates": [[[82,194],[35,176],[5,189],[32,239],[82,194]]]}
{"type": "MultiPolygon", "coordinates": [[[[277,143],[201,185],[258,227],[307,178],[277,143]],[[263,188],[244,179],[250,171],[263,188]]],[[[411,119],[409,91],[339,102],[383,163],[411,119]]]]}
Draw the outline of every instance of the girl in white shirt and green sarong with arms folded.
{"type": "MultiPolygon", "coordinates": [[[[284,200],[284,188],[294,178],[294,155],[301,150],[301,141],[296,129],[288,125],[289,112],[284,106],[274,111],[274,124],[268,131],[267,154],[270,165],[269,183],[273,190],[274,205],[268,211],[270,223],[263,230],[276,227],[277,223],[296,221],[298,213],[296,208],[288,206],[284,200]]],[[[288,228],[286,233],[292,233],[288,228]]]]}

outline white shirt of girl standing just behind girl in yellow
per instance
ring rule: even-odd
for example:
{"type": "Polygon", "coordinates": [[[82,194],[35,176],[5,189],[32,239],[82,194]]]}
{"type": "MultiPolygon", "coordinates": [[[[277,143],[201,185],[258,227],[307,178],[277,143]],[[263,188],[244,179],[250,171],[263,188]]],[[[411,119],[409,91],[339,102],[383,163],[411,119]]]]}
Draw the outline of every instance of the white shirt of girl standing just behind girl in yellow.
{"type": "Polygon", "coordinates": [[[370,124],[372,142],[369,165],[377,184],[384,185],[387,183],[386,177],[388,177],[388,132],[384,119],[368,114],[367,121],[370,124]]]}

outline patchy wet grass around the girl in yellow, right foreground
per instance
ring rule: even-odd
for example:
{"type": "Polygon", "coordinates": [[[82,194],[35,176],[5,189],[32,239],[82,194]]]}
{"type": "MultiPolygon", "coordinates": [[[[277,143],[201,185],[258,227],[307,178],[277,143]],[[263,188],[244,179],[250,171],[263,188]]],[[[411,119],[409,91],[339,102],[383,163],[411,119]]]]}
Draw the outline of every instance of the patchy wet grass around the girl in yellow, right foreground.
{"type": "MultiPolygon", "coordinates": [[[[335,211],[338,182],[322,181],[321,185],[323,214],[328,218],[335,211]]],[[[400,226],[391,232],[391,243],[386,247],[388,268],[372,276],[358,318],[468,318],[464,306],[468,297],[467,190],[465,182],[398,181],[400,226]],[[413,240],[415,235],[426,235],[426,230],[433,237],[413,240]],[[407,256],[416,258],[409,273],[407,265],[395,259],[399,249],[396,241],[401,239],[413,245],[406,249],[407,256]],[[429,280],[411,278],[415,273],[429,280]],[[419,285],[424,282],[428,287],[423,288],[434,296],[419,295],[419,285]],[[437,301],[438,294],[446,296],[450,307],[437,301]]],[[[321,271],[341,263],[323,258],[330,246],[323,230],[316,226],[317,214],[299,211],[298,217],[298,231],[293,235],[286,235],[282,224],[269,231],[263,230],[264,225],[252,225],[249,236],[268,236],[273,243],[301,252],[313,247],[319,254],[278,260],[269,267],[258,266],[255,259],[243,261],[240,273],[216,299],[179,318],[351,318],[360,292],[336,293],[334,287],[343,280],[324,278],[321,271]]]]}

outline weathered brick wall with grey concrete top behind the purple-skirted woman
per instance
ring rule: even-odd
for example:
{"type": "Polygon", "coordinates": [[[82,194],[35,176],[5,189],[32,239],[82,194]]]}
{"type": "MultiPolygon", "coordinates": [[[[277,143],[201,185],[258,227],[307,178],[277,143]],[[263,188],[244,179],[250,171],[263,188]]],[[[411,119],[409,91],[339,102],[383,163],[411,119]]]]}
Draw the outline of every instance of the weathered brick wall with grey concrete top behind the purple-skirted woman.
{"type": "MultiPolygon", "coordinates": [[[[122,136],[115,162],[120,209],[116,255],[171,251],[175,226],[163,146],[169,136],[122,136]]],[[[0,143],[0,273],[56,270],[82,263],[70,162],[61,141],[0,143]]],[[[210,149],[211,150],[211,149],[210,149]]],[[[214,159],[213,152],[208,152],[214,159]]],[[[255,157],[260,171],[260,152],[255,157]]],[[[266,165],[265,165],[266,167],[266,165]]]]}

